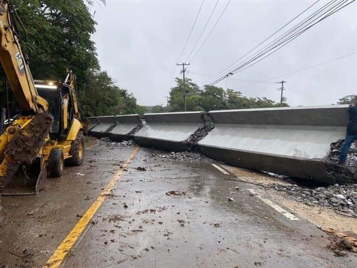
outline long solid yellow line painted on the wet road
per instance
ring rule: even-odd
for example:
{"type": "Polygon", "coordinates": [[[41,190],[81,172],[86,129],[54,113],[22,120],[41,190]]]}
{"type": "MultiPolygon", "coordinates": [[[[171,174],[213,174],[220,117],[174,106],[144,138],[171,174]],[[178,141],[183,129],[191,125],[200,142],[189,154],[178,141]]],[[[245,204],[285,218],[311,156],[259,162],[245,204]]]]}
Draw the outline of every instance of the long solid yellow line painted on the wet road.
{"type": "Polygon", "coordinates": [[[90,220],[93,218],[94,214],[97,212],[100,205],[106,199],[106,197],[110,194],[115,183],[120,179],[121,175],[124,172],[124,169],[128,166],[128,164],[134,159],[136,154],[139,152],[140,147],[136,146],[132,154],[128,157],[128,159],[123,163],[121,169],[113,176],[111,181],[102,191],[102,193],[98,196],[98,198],[92,203],[83,217],[78,221],[78,223],[74,226],[74,228],[70,231],[67,237],[62,241],[60,246],[57,247],[56,251],[53,255],[48,259],[44,268],[56,268],[59,267],[64,259],[66,258],[69,250],[76,243],[84,229],[87,227],[90,220]]]}

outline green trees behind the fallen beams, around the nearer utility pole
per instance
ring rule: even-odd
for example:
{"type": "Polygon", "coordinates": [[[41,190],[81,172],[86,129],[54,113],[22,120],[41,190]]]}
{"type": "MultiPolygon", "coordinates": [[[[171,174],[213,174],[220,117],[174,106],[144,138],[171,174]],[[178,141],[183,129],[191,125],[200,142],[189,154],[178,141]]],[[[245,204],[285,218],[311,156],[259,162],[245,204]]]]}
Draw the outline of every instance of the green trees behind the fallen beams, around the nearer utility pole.
{"type": "MultiPolygon", "coordinates": [[[[170,91],[169,108],[172,112],[184,111],[183,80],[176,78],[176,83],[177,86],[170,91]]],[[[185,88],[187,111],[280,107],[280,103],[266,97],[248,98],[233,89],[225,91],[216,86],[204,86],[200,89],[191,79],[186,80],[185,88]]],[[[282,106],[288,104],[284,102],[282,106]]]]}

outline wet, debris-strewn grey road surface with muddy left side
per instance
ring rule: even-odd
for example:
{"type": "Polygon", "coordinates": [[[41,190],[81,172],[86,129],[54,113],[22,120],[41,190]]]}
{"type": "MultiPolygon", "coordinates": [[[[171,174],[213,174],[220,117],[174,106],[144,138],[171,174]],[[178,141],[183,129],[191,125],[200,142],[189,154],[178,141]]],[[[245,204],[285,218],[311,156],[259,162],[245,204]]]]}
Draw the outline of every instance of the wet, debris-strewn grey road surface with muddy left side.
{"type": "MultiPolygon", "coordinates": [[[[45,192],[3,197],[0,264],[42,267],[134,148],[99,142],[45,192]]],[[[353,253],[334,256],[315,225],[259,199],[258,186],[211,161],[152,153],[140,148],[63,267],[357,267],[353,253]]]]}

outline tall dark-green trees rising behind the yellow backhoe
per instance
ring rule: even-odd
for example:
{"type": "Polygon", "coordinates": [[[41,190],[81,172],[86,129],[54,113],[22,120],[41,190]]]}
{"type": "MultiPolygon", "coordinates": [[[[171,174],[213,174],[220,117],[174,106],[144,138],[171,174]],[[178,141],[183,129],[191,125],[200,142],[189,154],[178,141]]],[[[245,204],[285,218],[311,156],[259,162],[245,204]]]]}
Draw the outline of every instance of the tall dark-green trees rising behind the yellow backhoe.
{"type": "MultiPolygon", "coordinates": [[[[117,87],[101,71],[90,37],[96,22],[89,13],[94,2],[105,0],[12,0],[26,29],[23,47],[34,79],[63,81],[68,69],[77,76],[80,105],[86,115],[145,112],[133,95],[117,87]]],[[[3,71],[0,100],[5,107],[3,71]]]]}

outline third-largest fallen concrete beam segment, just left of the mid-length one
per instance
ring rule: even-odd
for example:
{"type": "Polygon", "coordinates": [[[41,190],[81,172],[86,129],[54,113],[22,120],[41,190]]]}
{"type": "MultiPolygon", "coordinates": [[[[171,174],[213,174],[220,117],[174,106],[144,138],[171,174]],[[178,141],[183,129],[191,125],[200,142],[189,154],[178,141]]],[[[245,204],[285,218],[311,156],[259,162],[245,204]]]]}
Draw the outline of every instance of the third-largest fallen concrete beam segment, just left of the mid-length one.
{"type": "Polygon", "coordinates": [[[130,140],[129,134],[143,124],[138,114],[116,115],[115,121],[117,125],[109,133],[114,141],[130,140]]]}

